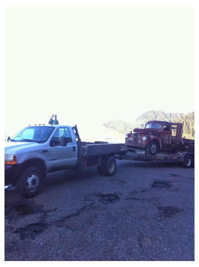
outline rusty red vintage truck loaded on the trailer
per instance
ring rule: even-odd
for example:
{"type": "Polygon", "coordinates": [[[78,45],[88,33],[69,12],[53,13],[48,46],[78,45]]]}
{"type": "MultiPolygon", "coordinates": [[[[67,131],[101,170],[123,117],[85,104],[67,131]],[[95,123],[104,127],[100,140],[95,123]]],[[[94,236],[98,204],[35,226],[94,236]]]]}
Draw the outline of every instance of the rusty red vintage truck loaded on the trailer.
{"type": "Polygon", "coordinates": [[[195,150],[195,140],[183,138],[183,123],[150,121],[144,129],[134,129],[125,136],[125,146],[141,149],[145,155],[156,155],[158,151],[191,152],[195,150]],[[174,134],[174,135],[172,135],[174,134]]]}

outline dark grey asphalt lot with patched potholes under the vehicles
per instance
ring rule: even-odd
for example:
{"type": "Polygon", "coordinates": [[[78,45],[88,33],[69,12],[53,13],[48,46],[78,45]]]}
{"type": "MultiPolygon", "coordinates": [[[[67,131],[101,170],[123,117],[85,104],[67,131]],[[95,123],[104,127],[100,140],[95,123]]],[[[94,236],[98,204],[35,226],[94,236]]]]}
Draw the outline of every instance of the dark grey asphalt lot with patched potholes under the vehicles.
{"type": "Polygon", "coordinates": [[[194,261],[194,168],[117,160],[5,191],[5,261],[194,261]]]}

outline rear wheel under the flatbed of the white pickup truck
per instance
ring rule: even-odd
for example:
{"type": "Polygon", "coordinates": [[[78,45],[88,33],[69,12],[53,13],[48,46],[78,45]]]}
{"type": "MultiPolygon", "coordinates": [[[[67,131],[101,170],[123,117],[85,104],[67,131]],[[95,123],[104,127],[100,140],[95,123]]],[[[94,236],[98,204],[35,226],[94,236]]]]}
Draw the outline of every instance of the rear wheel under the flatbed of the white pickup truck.
{"type": "Polygon", "coordinates": [[[101,159],[101,166],[98,167],[101,174],[112,176],[116,171],[116,160],[113,156],[105,156],[101,159]]]}

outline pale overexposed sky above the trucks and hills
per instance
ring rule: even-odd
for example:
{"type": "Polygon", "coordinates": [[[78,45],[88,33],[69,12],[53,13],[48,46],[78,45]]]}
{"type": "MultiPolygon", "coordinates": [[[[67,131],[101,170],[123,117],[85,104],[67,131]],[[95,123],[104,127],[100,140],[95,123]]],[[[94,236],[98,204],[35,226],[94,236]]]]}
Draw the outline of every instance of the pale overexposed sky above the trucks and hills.
{"type": "MultiPolygon", "coordinates": [[[[5,131],[194,107],[193,6],[5,7],[5,131]]],[[[14,131],[14,132],[13,132],[14,131]]]]}

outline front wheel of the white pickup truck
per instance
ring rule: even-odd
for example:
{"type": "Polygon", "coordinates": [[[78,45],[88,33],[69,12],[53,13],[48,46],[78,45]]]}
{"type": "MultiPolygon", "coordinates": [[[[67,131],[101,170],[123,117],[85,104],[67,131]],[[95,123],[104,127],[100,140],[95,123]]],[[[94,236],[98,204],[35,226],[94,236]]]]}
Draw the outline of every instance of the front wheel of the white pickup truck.
{"type": "Polygon", "coordinates": [[[24,168],[17,181],[17,190],[24,197],[36,196],[43,185],[42,172],[38,167],[24,168]]]}

